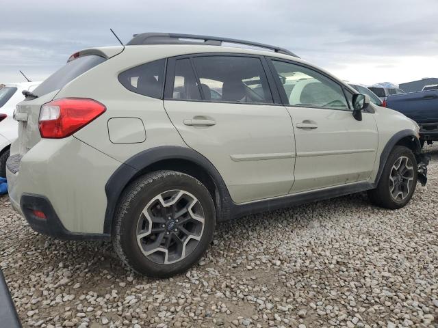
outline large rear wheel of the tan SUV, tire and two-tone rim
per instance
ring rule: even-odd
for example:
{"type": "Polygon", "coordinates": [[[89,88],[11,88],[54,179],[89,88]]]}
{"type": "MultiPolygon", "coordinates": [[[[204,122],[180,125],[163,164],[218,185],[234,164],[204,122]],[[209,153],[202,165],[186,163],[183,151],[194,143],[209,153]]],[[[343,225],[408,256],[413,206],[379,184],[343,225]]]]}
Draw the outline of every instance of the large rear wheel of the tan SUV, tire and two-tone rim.
{"type": "Polygon", "coordinates": [[[139,273],[169,277],[201,258],[215,225],[214,203],[201,182],[179,172],[153,172],[124,192],[116,214],[114,248],[139,273]]]}

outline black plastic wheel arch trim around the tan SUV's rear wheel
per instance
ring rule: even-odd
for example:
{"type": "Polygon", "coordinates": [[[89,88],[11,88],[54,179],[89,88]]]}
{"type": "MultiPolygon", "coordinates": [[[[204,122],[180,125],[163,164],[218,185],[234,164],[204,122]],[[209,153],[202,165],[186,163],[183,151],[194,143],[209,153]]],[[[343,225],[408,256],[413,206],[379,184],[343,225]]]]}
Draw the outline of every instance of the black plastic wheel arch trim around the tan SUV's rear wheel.
{"type": "Polygon", "coordinates": [[[230,218],[231,197],[216,167],[192,148],[160,146],[132,156],[116,169],[105,184],[107,208],[103,233],[112,233],[116,207],[127,186],[139,176],[162,169],[188,174],[203,182],[214,200],[217,221],[230,218]]]}

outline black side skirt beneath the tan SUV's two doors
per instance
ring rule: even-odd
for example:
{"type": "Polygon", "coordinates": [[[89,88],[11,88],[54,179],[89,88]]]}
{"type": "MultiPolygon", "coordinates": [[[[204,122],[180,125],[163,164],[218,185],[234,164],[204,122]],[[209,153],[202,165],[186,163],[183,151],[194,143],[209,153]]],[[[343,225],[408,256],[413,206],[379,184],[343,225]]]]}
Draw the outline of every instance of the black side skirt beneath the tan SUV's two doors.
{"type": "Polygon", "coordinates": [[[243,217],[256,213],[268,212],[270,210],[279,210],[306,204],[310,202],[317,202],[319,200],[328,200],[330,198],[349,195],[351,193],[360,193],[376,188],[376,185],[370,182],[357,182],[340,187],[331,187],[318,191],[307,191],[297,195],[286,195],[283,197],[276,197],[270,200],[261,200],[257,202],[250,202],[246,204],[233,204],[231,206],[231,218],[243,217]]]}

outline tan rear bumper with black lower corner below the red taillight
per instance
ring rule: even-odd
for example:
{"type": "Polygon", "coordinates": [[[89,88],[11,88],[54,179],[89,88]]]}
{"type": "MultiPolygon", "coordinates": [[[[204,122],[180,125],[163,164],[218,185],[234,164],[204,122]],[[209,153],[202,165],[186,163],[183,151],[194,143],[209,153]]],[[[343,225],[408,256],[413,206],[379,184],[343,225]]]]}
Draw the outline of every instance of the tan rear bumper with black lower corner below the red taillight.
{"type": "Polygon", "coordinates": [[[67,239],[109,236],[103,233],[105,184],[120,162],[75,137],[42,139],[23,157],[15,148],[6,167],[9,197],[34,230],[67,239]],[[36,206],[47,210],[46,221],[25,212],[36,206]]]}

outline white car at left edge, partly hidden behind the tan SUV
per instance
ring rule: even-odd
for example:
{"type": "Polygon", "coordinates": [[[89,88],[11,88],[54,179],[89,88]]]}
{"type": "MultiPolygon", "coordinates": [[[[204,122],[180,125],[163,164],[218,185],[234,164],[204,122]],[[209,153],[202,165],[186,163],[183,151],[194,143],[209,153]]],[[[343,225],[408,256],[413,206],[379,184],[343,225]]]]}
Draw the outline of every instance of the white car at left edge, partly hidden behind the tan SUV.
{"type": "Polygon", "coordinates": [[[32,92],[40,83],[8,83],[0,89],[0,177],[2,178],[6,176],[9,148],[18,137],[18,122],[12,117],[15,106],[24,100],[23,91],[32,92]]]}

